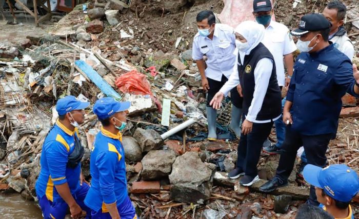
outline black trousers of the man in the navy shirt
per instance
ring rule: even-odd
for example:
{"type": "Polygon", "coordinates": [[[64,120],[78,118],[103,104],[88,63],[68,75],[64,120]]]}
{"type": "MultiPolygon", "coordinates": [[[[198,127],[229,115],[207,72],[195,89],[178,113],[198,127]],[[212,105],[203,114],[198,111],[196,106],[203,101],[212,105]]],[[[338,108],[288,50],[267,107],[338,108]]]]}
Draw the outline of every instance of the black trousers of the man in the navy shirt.
{"type": "MultiPolygon", "coordinates": [[[[282,145],[283,152],[279,160],[276,177],[280,178],[284,182],[287,182],[288,177],[293,170],[297,150],[302,146],[304,147],[304,151],[307,155],[308,164],[325,167],[327,162],[325,152],[332,136],[332,133],[303,135],[293,131],[291,126],[287,126],[286,137],[282,145]]],[[[316,200],[314,186],[310,187],[308,202],[312,205],[319,205],[316,200]]]]}

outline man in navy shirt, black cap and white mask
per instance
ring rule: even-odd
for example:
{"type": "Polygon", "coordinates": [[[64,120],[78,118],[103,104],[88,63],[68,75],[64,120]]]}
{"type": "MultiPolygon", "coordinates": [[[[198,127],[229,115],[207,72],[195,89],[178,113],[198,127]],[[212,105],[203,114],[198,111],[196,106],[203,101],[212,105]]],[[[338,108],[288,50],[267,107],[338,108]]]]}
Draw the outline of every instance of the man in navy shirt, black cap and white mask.
{"type": "MultiPolygon", "coordinates": [[[[346,92],[359,97],[359,71],[348,56],[329,43],[329,31],[330,23],[322,14],[308,14],[291,32],[299,37],[296,45],[301,54],[294,63],[283,110],[286,137],[276,174],[260,187],[262,192],[288,184],[296,152],[302,145],[309,164],[325,167],[325,152],[336,132],[341,98],[346,92]]],[[[319,204],[313,186],[308,202],[319,204]]]]}

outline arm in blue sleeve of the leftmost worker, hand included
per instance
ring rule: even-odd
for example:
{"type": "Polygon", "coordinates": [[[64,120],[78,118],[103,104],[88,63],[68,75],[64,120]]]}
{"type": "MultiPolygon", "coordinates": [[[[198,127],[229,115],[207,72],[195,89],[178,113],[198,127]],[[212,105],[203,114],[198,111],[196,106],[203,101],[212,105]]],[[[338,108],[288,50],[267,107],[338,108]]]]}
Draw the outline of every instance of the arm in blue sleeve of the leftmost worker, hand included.
{"type": "Polygon", "coordinates": [[[65,176],[68,161],[67,148],[57,141],[53,141],[49,144],[52,145],[47,147],[46,158],[49,165],[51,180],[58,194],[70,207],[71,217],[78,218],[82,214],[82,209],[73,198],[65,176]]]}

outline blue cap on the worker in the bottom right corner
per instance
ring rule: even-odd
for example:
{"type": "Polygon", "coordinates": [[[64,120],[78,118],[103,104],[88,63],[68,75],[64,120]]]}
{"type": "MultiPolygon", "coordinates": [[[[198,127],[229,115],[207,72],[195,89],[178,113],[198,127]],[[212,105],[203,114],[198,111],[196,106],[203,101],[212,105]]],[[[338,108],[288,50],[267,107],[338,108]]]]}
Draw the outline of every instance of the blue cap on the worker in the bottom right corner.
{"type": "Polygon", "coordinates": [[[359,192],[359,179],[354,170],[344,164],[334,164],[326,168],[308,164],[303,170],[304,179],[327,195],[340,202],[350,202],[359,192]]]}

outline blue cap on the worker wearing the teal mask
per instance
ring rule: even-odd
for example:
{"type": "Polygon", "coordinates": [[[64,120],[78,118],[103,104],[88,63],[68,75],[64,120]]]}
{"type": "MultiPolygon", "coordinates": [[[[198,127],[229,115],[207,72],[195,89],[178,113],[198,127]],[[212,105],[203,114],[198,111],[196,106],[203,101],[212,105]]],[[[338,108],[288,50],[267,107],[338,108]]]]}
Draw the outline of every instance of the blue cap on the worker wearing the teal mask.
{"type": "Polygon", "coordinates": [[[93,112],[97,115],[100,120],[110,117],[116,112],[122,112],[130,108],[130,102],[118,102],[112,97],[104,97],[97,99],[93,106],[93,112]]]}

